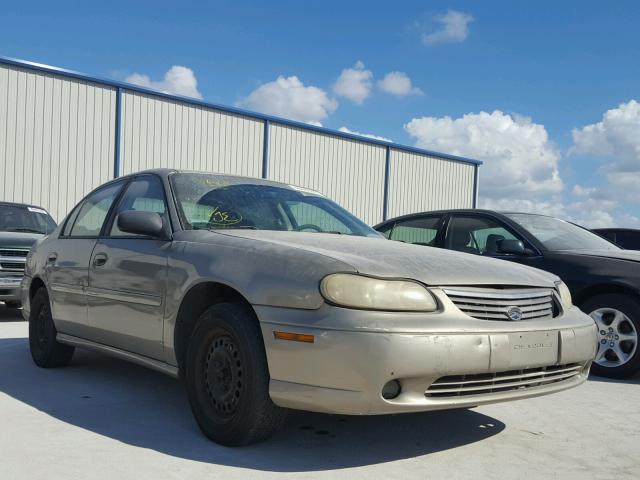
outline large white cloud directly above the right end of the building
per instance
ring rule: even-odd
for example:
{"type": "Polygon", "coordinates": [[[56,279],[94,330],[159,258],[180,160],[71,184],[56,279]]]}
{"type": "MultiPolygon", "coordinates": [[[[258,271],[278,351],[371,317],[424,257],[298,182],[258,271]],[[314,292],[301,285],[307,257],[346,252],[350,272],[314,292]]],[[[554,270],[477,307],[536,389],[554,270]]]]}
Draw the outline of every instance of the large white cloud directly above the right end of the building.
{"type": "Polygon", "coordinates": [[[418,147],[484,161],[481,192],[491,198],[528,198],[559,193],[560,154],[543,125],[530,118],[468,113],[459,118],[414,118],[405,125],[418,147]]]}

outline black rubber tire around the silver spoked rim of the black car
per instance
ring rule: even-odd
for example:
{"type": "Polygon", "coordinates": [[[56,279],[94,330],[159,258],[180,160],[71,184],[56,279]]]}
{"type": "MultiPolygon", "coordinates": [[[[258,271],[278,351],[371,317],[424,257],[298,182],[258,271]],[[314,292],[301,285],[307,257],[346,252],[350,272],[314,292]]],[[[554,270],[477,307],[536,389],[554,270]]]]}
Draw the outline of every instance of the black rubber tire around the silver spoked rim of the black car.
{"type": "MultiPolygon", "coordinates": [[[[628,295],[607,293],[603,295],[596,295],[595,297],[585,300],[580,305],[580,309],[587,315],[591,315],[592,312],[599,309],[617,310],[622,312],[628,318],[629,324],[626,324],[625,322],[625,325],[623,326],[625,333],[632,332],[632,327],[635,328],[635,353],[633,353],[625,363],[618,366],[599,365],[594,362],[591,367],[592,373],[601,377],[628,378],[640,371],[640,345],[638,345],[638,340],[640,340],[640,338],[638,338],[638,333],[640,333],[640,303],[635,298],[628,295]]],[[[599,331],[604,331],[605,334],[608,333],[602,328],[599,328],[599,331]]],[[[599,341],[605,340],[606,345],[606,339],[601,334],[598,335],[598,339],[599,341]]],[[[621,347],[627,349],[628,352],[631,352],[631,345],[632,343],[625,342],[621,347]]],[[[610,352],[607,353],[610,354],[610,352]]],[[[615,359],[617,357],[614,356],[613,358],[615,359]]]]}

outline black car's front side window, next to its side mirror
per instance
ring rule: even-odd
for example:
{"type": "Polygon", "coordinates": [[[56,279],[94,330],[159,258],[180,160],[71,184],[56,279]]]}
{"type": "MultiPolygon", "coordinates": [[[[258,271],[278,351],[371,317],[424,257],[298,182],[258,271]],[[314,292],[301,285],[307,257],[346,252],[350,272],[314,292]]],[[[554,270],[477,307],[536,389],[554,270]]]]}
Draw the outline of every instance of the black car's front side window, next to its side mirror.
{"type": "Polygon", "coordinates": [[[500,253],[500,240],[521,239],[492,218],[455,216],[449,222],[446,245],[450,250],[490,256],[500,253]]]}

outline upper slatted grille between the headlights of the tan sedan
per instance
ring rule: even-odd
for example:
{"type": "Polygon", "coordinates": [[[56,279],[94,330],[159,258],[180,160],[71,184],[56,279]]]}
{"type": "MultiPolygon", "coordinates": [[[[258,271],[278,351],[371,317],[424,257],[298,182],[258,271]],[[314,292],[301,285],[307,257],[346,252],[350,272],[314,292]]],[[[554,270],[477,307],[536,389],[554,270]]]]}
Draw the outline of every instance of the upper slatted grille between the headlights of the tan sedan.
{"type": "Polygon", "coordinates": [[[508,289],[494,290],[482,288],[445,288],[449,299],[470,317],[482,320],[506,320],[509,311],[516,307],[521,312],[520,320],[544,320],[557,314],[553,290],[508,289]]]}

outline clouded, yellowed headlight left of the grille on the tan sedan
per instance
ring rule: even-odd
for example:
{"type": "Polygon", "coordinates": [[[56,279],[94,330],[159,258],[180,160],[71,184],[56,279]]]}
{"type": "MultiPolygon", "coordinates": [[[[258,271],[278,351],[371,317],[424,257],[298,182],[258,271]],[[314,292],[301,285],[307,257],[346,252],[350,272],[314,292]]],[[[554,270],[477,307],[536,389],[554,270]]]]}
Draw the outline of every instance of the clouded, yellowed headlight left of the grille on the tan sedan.
{"type": "Polygon", "coordinates": [[[364,310],[433,312],[438,308],[425,287],[407,280],[335,273],[322,279],[320,292],[330,303],[364,310]]]}

